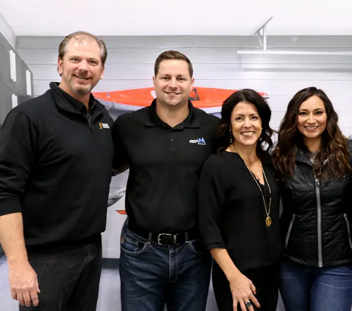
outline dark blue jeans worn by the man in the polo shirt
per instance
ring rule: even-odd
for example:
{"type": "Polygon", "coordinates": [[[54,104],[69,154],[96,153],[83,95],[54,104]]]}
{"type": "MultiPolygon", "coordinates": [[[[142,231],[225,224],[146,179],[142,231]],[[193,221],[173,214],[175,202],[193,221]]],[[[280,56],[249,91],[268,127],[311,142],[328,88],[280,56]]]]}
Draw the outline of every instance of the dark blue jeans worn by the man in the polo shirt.
{"type": "Polygon", "coordinates": [[[205,311],[211,256],[191,240],[163,246],[123,229],[120,254],[122,311],[205,311]]]}

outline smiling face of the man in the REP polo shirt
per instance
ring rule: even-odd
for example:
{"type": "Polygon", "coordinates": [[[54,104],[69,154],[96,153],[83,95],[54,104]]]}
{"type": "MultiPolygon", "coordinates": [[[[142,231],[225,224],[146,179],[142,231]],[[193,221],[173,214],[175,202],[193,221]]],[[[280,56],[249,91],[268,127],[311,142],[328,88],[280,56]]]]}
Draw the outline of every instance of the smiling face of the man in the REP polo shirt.
{"type": "Polygon", "coordinates": [[[166,107],[187,105],[194,78],[191,78],[188,64],[182,60],[160,62],[153,83],[157,101],[166,107]]]}

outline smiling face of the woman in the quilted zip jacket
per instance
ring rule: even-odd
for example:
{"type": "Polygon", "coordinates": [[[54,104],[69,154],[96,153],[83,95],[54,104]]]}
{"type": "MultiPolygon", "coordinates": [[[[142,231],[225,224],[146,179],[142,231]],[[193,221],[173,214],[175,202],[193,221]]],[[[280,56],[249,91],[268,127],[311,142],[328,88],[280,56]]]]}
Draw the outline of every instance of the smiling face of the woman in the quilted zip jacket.
{"type": "Polygon", "coordinates": [[[320,138],[326,123],[325,105],[318,96],[309,97],[299,106],[297,127],[306,139],[320,138]]]}

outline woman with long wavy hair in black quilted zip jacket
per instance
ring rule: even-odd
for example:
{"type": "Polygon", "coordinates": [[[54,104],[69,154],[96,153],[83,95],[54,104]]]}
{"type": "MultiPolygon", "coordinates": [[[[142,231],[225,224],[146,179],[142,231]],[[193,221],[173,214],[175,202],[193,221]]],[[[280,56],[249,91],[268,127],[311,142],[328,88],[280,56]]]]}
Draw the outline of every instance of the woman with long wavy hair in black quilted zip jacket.
{"type": "Polygon", "coordinates": [[[273,155],[282,182],[286,311],[351,310],[351,148],[322,90],[293,96],[273,155]]]}

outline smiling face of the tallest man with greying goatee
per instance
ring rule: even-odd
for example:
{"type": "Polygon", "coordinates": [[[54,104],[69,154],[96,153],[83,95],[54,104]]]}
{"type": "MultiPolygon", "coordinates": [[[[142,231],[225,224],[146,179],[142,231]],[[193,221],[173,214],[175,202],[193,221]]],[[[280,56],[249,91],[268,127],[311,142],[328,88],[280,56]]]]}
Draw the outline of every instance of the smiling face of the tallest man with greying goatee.
{"type": "Polygon", "coordinates": [[[70,40],[58,66],[62,78],[60,86],[72,96],[89,94],[103,77],[100,47],[95,40],[86,37],[70,40]]]}

